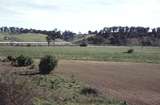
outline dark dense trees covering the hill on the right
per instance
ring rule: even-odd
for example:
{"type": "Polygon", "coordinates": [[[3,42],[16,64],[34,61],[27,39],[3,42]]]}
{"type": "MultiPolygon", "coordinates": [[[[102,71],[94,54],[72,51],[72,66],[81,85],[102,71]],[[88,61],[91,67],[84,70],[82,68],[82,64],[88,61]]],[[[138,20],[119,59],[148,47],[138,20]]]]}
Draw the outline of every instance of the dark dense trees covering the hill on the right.
{"type": "Polygon", "coordinates": [[[87,38],[90,44],[160,46],[160,27],[105,27],[87,38]]]}

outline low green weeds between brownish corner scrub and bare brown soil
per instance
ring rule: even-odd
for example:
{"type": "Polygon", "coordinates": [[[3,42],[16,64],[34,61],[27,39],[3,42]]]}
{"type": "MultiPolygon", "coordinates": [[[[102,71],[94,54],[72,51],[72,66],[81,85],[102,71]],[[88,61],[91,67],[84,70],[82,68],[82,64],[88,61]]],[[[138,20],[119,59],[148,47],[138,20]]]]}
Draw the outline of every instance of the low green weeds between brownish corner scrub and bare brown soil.
{"type": "Polygon", "coordinates": [[[84,84],[75,80],[74,77],[40,75],[32,79],[32,82],[38,89],[46,89],[46,91],[38,92],[40,94],[36,97],[35,105],[126,105],[123,104],[124,102],[101,96],[98,93],[97,96],[81,94],[84,84]]]}

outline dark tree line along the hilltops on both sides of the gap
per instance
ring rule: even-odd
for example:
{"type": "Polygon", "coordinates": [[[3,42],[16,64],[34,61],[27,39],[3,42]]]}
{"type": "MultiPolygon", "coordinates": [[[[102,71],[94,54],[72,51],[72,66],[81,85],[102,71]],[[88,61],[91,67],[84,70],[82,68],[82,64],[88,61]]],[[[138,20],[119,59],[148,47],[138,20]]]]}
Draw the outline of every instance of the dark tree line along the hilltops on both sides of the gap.
{"type": "MultiPolygon", "coordinates": [[[[17,27],[0,27],[0,32],[6,32],[12,34],[22,33],[39,33],[45,34],[46,40],[50,42],[56,38],[63,39],[65,41],[72,41],[77,35],[72,31],[60,31],[57,29],[36,30],[17,27]]],[[[86,43],[95,45],[140,45],[140,46],[160,46],[160,27],[105,27],[100,31],[88,31],[87,34],[83,34],[86,43]],[[93,36],[85,37],[93,34],[93,36]]]]}

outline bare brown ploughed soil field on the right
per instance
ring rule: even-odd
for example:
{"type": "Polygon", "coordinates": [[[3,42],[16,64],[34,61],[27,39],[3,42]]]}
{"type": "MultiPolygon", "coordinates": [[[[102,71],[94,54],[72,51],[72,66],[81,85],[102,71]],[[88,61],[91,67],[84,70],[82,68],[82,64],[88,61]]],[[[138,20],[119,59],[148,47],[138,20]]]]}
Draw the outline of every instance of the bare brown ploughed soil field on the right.
{"type": "Polygon", "coordinates": [[[57,69],[130,105],[160,105],[159,64],[60,61],[57,69]]]}

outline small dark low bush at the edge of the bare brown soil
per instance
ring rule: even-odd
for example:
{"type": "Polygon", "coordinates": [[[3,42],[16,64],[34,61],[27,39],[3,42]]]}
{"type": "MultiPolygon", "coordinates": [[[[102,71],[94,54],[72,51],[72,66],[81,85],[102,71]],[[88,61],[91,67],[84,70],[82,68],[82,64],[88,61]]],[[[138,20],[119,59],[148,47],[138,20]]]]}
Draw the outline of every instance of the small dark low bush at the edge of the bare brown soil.
{"type": "Polygon", "coordinates": [[[81,94],[97,96],[98,95],[98,91],[96,89],[92,88],[92,87],[84,87],[81,90],[81,94]]]}

